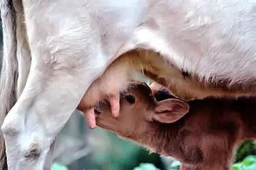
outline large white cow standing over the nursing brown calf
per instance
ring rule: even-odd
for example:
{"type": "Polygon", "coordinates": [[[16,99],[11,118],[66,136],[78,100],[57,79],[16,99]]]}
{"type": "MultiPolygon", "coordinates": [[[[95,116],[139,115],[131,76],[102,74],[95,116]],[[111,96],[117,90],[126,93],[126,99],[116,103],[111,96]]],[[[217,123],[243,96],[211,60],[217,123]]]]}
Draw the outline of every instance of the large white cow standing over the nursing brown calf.
{"type": "Polygon", "coordinates": [[[255,95],[255,9],[256,0],[1,0],[8,169],[49,169],[57,133],[92,82],[130,50],[158,52],[149,52],[145,72],[169,88],[192,86],[198,98],[255,95]]]}

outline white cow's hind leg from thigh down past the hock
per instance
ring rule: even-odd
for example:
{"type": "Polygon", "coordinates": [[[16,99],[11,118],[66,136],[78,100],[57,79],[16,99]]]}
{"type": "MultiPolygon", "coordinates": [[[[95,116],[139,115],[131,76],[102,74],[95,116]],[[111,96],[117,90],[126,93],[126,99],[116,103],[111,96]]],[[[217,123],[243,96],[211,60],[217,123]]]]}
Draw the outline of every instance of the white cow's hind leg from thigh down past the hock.
{"type": "MultiPolygon", "coordinates": [[[[9,170],[44,169],[57,133],[108,65],[98,44],[89,39],[90,27],[72,24],[54,35],[29,36],[32,61],[27,84],[1,127],[9,170]]],[[[38,28],[28,28],[40,35],[38,28]]]]}

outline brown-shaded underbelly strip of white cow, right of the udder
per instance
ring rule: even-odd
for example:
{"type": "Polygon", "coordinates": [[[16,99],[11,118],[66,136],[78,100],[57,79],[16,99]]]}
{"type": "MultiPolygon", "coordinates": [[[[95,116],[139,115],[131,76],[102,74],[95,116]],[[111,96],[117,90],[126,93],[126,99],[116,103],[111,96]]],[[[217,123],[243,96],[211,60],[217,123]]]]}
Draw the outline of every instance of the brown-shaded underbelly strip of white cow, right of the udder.
{"type": "Polygon", "coordinates": [[[199,79],[196,73],[187,73],[175,67],[162,56],[155,52],[139,52],[143,58],[143,73],[148,78],[164,85],[174,95],[184,100],[203,99],[205,97],[242,97],[256,95],[256,80],[237,81],[230,84],[231,80],[221,78],[199,79]],[[216,81],[218,80],[218,81],[216,81]]]}

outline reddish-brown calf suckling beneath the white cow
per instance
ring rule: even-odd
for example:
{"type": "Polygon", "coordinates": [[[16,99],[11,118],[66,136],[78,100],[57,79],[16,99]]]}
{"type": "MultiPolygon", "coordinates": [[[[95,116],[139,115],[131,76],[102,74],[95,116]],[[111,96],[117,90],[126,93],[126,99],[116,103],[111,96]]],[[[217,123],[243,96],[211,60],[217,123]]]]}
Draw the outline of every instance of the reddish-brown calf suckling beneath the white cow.
{"type": "Polygon", "coordinates": [[[97,125],[180,160],[181,170],[227,170],[238,144],[256,137],[256,99],[186,103],[167,88],[157,84],[151,88],[132,82],[121,93],[117,118],[111,116],[109,103],[102,101],[97,125]]]}

